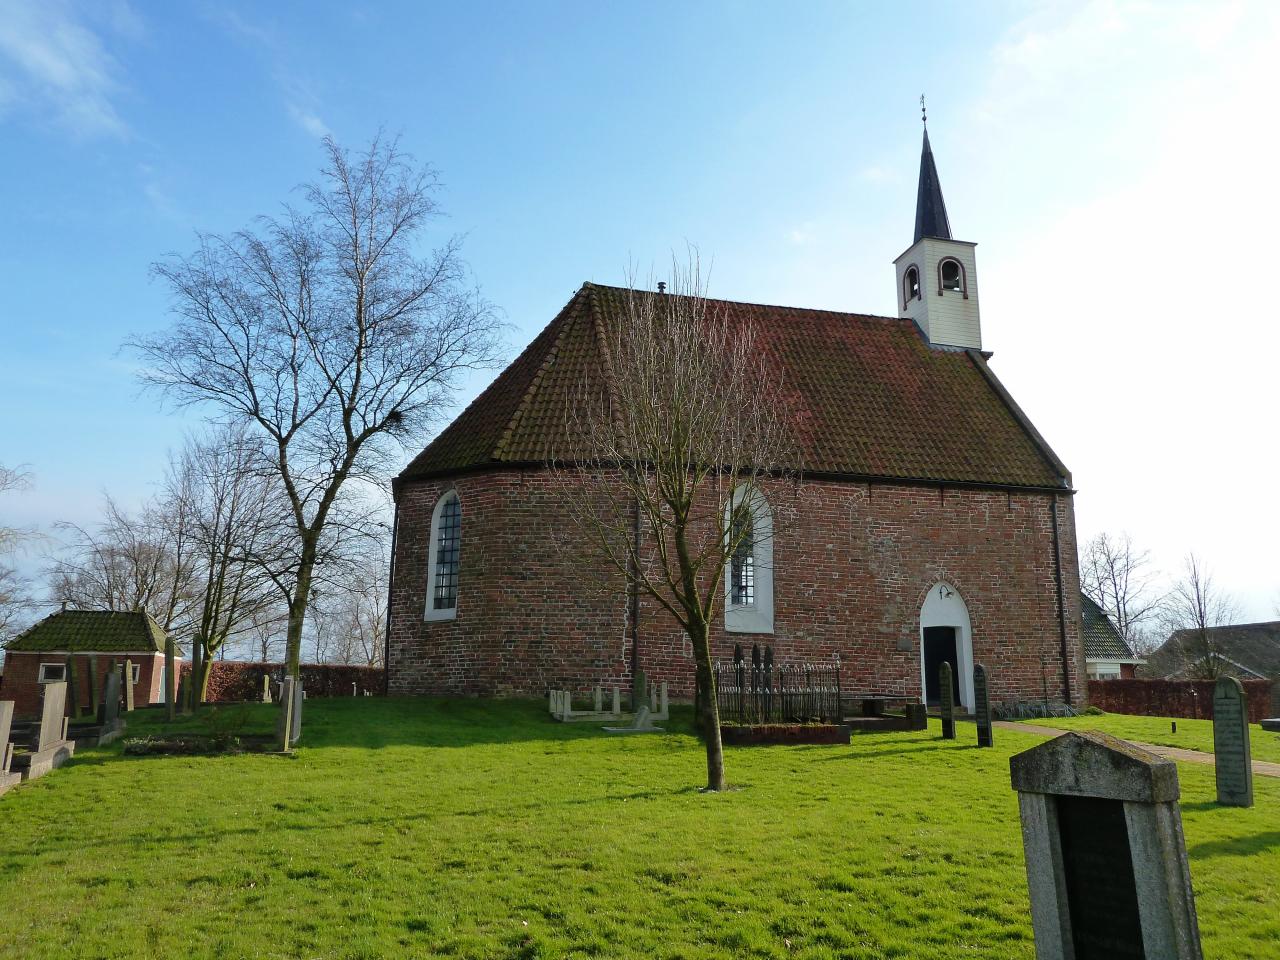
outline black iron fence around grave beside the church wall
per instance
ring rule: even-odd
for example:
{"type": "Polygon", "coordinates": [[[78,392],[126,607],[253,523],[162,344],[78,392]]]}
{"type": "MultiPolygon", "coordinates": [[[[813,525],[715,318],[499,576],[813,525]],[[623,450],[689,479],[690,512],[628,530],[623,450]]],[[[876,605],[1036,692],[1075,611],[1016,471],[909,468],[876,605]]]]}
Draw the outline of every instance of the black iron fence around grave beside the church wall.
{"type": "Polygon", "coordinates": [[[773,648],[733,646],[733,662],[716,662],[716,696],[730,723],[840,723],[840,660],[774,663],[773,648]]]}

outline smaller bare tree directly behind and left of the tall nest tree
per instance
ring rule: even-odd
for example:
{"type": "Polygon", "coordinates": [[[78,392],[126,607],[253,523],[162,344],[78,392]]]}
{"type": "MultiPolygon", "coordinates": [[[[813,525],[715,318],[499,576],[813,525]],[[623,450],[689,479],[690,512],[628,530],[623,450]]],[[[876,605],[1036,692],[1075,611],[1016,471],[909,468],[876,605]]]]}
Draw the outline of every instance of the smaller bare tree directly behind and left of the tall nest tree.
{"type": "Polygon", "coordinates": [[[278,486],[243,429],[192,438],[170,462],[165,500],[174,504],[170,513],[187,517],[197,563],[188,686],[193,703],[205,700],[212,658],[279,608],[262,563],[283,506],[278,486]]]}

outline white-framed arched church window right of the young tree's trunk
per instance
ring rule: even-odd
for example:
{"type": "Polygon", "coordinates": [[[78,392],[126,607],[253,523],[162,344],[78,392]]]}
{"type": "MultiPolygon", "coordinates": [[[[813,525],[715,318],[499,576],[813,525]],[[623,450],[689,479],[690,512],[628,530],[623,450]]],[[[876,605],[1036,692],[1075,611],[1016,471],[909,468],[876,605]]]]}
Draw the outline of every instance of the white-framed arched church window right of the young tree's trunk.
{"type": "Polygon", "coordinates": [[[724,628],[773,632],[773,513],[759,490],[733,492],[724,512],[732,556],[724,570],[724,628]]]}

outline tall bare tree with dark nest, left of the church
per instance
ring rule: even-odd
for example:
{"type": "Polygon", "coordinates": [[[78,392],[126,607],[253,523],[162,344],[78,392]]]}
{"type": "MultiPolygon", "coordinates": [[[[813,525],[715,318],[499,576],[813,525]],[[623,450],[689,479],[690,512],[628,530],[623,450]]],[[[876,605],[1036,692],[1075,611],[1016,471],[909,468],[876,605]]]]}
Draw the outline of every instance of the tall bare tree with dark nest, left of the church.
{"type": "Polygon", "coordinates": [[[467,285],[457,239],[419,255],[436,178],[394,141],[352,157],[325,140],[306,210],[202,236],[154,269],[174,325],[132,346],[145,380],[264,439],[297,563],[287,659],[298,673],[311,581],[348,480],[376,477],[449,404],[461,374],[497,360],[494,311],[467,285]]]}

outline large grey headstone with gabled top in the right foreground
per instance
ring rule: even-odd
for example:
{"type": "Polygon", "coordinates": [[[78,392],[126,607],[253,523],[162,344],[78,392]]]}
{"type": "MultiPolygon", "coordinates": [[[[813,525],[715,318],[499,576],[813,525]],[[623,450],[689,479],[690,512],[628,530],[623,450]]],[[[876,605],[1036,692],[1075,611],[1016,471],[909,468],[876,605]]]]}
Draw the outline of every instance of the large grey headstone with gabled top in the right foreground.
{"type": "Polygon", "coordinates": [[[1201,960],[1178,765],[1073,732],[1009,767],[1037,960],[1201,960]]]}

